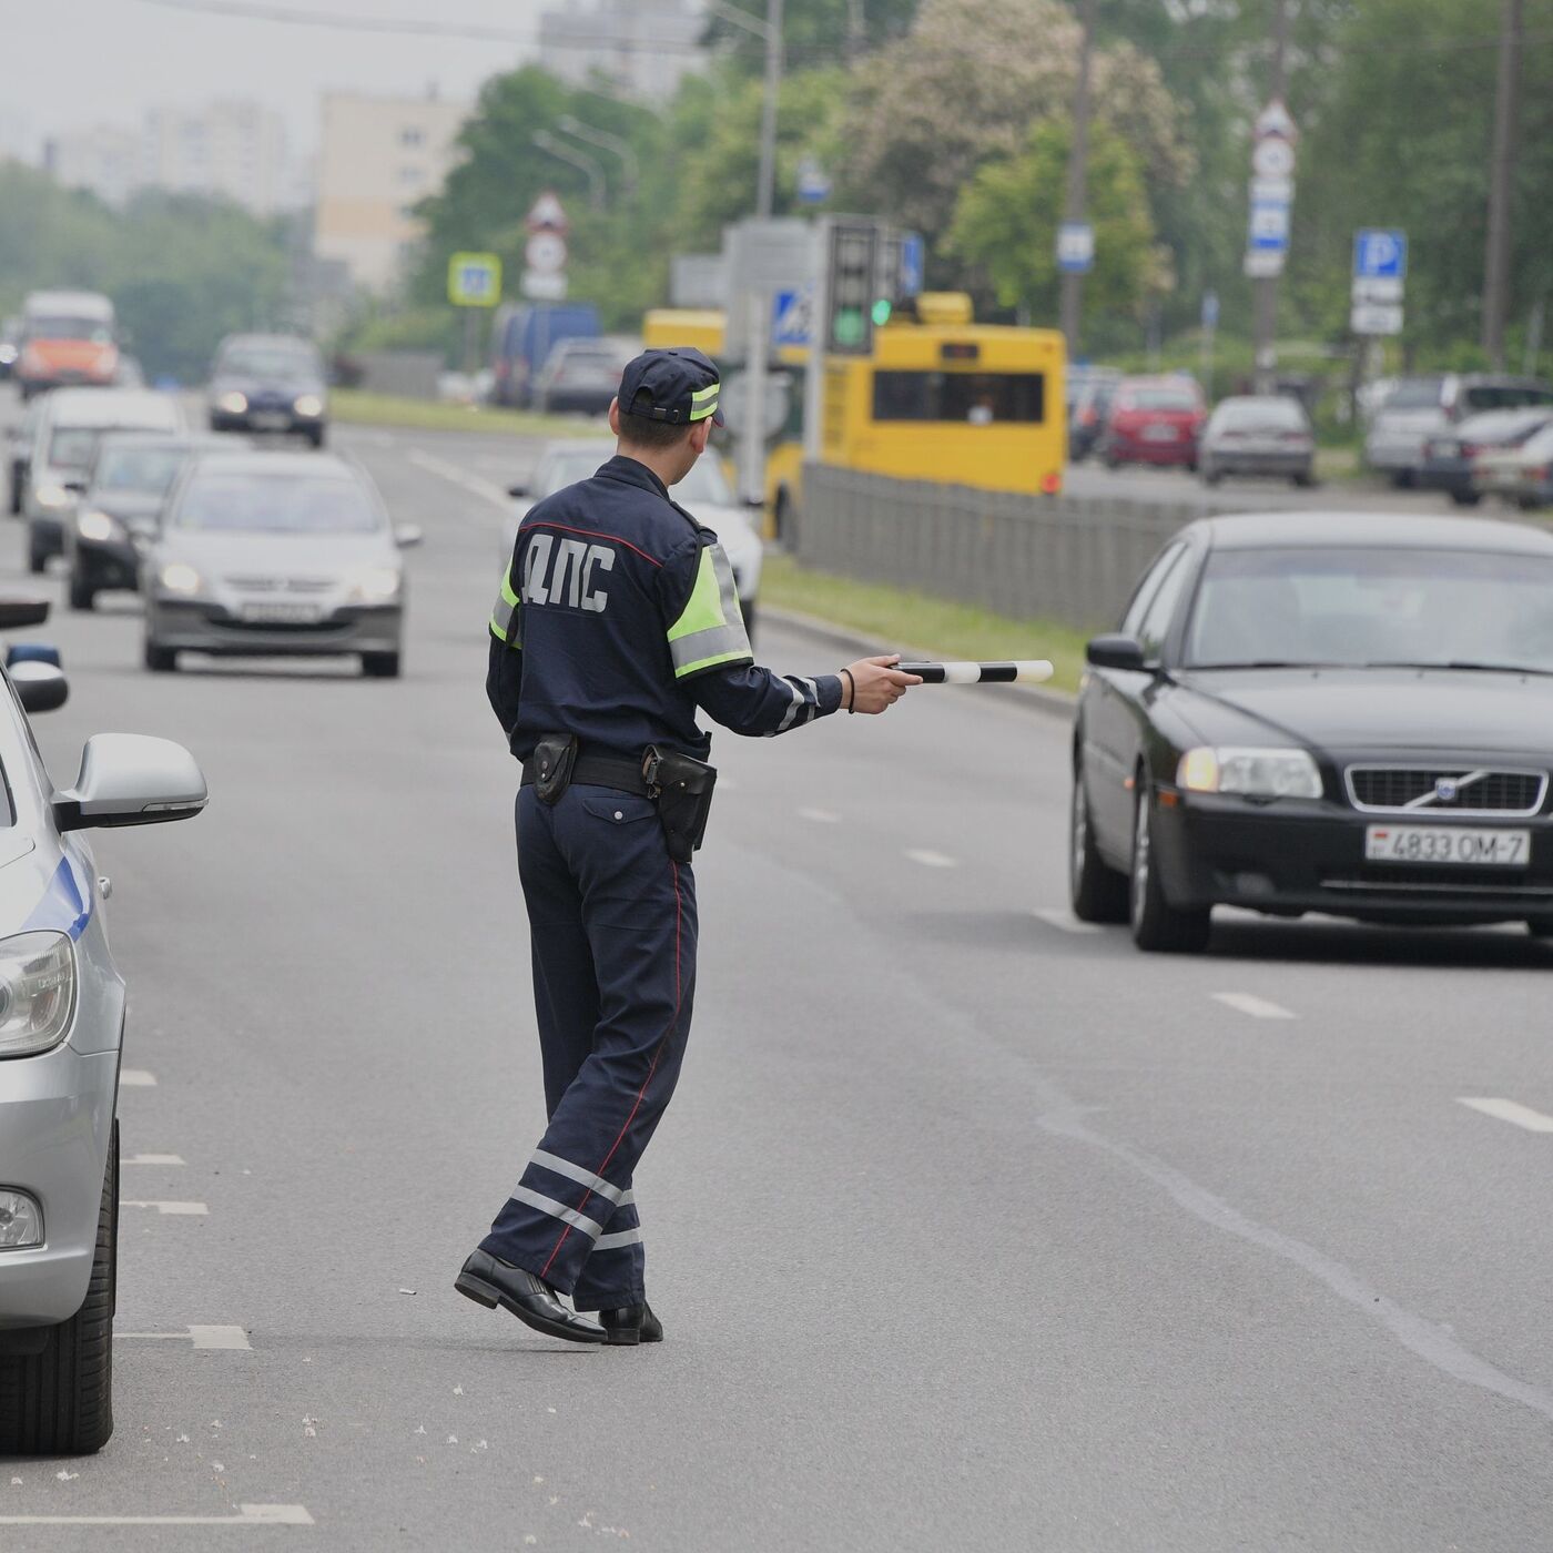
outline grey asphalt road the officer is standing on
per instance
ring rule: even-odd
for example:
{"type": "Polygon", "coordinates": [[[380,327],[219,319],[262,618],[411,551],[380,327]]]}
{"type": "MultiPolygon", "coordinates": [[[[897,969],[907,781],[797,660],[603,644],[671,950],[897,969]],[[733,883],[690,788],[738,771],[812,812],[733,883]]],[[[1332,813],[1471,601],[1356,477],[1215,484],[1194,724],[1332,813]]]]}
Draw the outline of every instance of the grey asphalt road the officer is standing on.
{"type": "Polygon", "coordinates": [[[491,492],[533,449],[339,441],[427,530],[402,682],[152,677],[127,599],[48,629],[56,776],[151,731],[213,798],[98,843],[126,1159],[180,1163],[124,1168],[113,1441],[0,1463],[0,1517],[102,1519],[6,1553],[1548,1544],[1553,1135],[1461,1101],[1553,1127],[1553,950],[1079,929],[1067,728],[994,690],[719,739],[696,1027],[637,1179],[668,1340],[458,1298],[542,1121],[481,686],[491,492]]]}

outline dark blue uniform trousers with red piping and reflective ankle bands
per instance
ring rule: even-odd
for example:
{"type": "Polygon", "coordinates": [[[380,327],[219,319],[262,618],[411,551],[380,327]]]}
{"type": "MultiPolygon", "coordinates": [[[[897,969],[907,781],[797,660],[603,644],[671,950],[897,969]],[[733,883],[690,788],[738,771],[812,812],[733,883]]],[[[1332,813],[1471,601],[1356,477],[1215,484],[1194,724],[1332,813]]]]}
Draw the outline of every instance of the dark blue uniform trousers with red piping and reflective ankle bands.
{"type": "Polygon", "coordinates": [[[696,989],[696,879],[648,798],[517,795],[550,1126],[481,1247],[579,1311],[640,1305],[631,1182],[674,1093],[696,989]]]}

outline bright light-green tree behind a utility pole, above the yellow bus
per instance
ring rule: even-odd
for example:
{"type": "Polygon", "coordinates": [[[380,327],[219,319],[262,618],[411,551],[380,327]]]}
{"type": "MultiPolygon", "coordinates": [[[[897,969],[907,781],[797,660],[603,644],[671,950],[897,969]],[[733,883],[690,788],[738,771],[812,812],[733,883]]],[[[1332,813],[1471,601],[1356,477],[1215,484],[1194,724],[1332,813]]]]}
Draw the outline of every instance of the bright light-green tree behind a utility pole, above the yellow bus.
{"type": "MultiPolygon", "coordinates": [[[[960,196],[947,238],[949,252],[986,276],[999,306],[1036,318],[1058,309],[1056,236],[1070,144],[1070,127],[1048,121],[1017,155],[985,163],[960,196]]],[[[1084,309],[1096,320],[1090,332],[1104,340],[1107,320],[1137,318],[1145,300],[1169,283],[1140,160],[1107,124],[1090,126],[1089,221],[1095,269],[1084,281],[1084,309]]]]}

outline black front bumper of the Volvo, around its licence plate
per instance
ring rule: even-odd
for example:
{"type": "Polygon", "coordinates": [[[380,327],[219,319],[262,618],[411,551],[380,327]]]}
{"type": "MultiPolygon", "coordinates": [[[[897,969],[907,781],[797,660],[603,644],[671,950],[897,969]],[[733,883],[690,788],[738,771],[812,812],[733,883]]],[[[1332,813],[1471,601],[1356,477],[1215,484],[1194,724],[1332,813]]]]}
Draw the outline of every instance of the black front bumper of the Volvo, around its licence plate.
{"type": "Polygon", "coordinates": [[[1416,823],[1463,829],[1531,831],[1525,868],[1367,862],[1367,826],[1398,818],[1326,800],[1255,804],[1166,789],[1154,814],[1160,882],[1173,905],[1241,905],[1275,916],[1328,912],[1393,922],[1553,916],[1553,820],[1547,815],[1416,817],[1416,823]]]}

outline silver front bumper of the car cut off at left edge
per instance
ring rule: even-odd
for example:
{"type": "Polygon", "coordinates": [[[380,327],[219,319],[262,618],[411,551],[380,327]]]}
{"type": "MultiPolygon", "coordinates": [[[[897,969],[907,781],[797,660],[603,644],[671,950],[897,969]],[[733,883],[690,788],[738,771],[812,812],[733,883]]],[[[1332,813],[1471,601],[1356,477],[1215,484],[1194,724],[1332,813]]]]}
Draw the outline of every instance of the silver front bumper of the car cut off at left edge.
{"type": "Polygon", "coordinates": [[[0,1186],[39,1200],[45,1236],[0,1250],[0,1329],[67,1322],[87,1297],[116,1089],[116,1050],[0,1062],[0,1186]]]}

